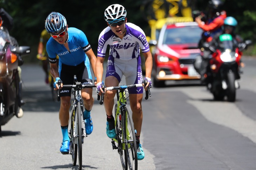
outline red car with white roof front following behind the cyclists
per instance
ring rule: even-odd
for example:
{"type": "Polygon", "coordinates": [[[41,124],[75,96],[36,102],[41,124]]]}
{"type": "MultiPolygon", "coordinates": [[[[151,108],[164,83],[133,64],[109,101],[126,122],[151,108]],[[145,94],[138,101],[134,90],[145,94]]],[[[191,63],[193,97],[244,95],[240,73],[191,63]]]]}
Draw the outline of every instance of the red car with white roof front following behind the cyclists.
{"type": "Polygon", "coordinates": [[[153,86],[163,87],[166,80],[197,80],[193,62],[200,55],[198,42],[202,29],[196,22],[166,24],[162,27],[153,54],[153,86]]]}

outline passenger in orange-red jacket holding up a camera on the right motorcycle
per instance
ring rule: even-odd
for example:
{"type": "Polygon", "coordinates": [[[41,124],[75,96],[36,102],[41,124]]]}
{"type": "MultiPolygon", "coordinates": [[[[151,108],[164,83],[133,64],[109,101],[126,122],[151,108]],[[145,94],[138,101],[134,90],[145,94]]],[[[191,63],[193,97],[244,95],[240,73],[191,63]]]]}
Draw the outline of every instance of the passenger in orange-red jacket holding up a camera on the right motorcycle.
{"type": "Polygon", "coordinates": [[[203,44],[205,42],[210,42],[213,39],[213,36],[218,32],[222,32],[222,25],[224,24],[224,19],[227,17],[226,12],[222,10],[223,2],[221,0],[210,0],[208,2],[209,8],[209,17],[206,22],[201,20],[202,16],[198,16],[195,18],[195,21],[198,23],[198,27],[200,27],[204,32],[202,33],[202,38],[198,43],[198,47],[201,50],[201,56],[196,59],[196,62],[199,64],[196,66],[196,71],[201,75],[201,82],[204,83],[206,80],[206,72],[207,67],[209,65],[209,50],[203,49],[203,44]]]}

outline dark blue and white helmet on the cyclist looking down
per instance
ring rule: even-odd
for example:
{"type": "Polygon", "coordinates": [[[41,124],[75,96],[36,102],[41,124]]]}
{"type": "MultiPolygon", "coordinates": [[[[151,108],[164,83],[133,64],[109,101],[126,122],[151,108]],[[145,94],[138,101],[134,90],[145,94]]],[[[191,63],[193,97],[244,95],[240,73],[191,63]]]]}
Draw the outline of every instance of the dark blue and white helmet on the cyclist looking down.
{"type": "Polygon", "coordinates": [[[49,34],[59,34],[67,28],[67,21],[58,12],[51,12],[45,21],[45,29],[49,34]]]}

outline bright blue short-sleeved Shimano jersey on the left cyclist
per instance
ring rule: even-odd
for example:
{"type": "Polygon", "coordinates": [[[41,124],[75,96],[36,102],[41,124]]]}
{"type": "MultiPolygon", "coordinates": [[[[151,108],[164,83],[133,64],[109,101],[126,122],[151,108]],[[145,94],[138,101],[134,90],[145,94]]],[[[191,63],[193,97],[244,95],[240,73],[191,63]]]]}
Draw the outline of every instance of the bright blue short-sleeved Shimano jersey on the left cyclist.
{"type": "Polygon", "coordinates": [[[56,55],[58,55],[59,72],[61,64],[77,66],[81,62],[85,62],[86,67],[89,68],[90,62],[85,52],[90,50],[91,46],[83,31],[77,28],[68,28],[68,41],[66,43],[68,43],[69,51],[63,44],[56,42],[53,37],[50,37],[46,45],[49,62],[56,63],[56,55]]]}

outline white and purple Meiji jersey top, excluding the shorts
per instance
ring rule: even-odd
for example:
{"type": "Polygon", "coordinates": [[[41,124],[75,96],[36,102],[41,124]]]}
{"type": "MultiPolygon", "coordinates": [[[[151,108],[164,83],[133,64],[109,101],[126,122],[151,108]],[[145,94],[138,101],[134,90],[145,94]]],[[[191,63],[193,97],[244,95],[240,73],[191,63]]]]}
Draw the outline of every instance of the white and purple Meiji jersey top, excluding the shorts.
{"type": "Polygon", "coordinates": [[[98,57],[105,57],[107,45],[110,46],[109,56],[121,60],[130,60],[140,56],[141,51],[148,52],[149,44],[140,27],[126,23],[126,34],[123,39],[117,37],[110,27],[105,28],[99,36],[98,57]]]}

